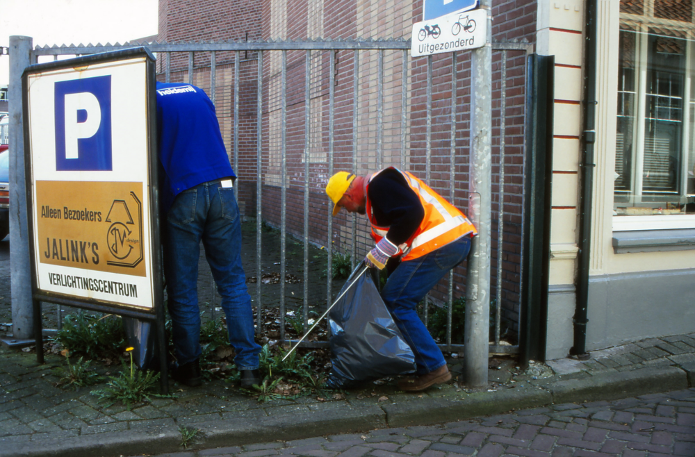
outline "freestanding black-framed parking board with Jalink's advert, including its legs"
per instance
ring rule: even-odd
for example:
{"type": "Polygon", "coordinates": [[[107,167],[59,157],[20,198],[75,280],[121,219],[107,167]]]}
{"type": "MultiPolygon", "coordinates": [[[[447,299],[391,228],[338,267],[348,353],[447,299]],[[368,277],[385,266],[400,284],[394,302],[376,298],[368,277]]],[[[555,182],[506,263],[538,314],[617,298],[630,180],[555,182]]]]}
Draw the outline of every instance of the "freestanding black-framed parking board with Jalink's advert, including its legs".
{"type": "Polygon", "coordinates": [[[40,301],[152,322],[167,393],[155,59],[145,48],[22,76],[38,360],[40,301]]]}

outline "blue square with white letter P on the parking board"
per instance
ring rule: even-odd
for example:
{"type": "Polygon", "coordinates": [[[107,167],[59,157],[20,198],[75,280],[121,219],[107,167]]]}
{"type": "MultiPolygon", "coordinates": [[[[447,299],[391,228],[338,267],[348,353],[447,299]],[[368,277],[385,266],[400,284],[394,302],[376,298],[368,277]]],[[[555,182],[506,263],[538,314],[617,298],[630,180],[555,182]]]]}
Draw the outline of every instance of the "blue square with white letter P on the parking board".
{"type": "Polygon", "coordinates": [[[111,75],[55,86],[56,170],[111,171],[111,75]]]}

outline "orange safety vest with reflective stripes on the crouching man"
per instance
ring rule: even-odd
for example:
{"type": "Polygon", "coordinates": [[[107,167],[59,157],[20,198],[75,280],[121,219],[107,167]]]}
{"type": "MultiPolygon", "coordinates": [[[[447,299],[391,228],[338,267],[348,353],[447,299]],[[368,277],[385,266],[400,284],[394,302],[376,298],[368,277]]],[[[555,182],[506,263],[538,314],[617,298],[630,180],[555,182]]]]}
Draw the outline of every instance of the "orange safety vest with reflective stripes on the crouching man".
{"type": "MultiPolygon", "coordinates": [[[[473,233],[474,236],[477,234],[468,217],[443,199],[441,195],[434,192],[430,186],[409,172],[403,172],[395,167],[387,169],[395,169],[395,171],[402,174],[410,188],[420,198],[423,208],[425,208],[423,222],[420,222],[418,229],[406,242],[398,246],[403,253],[402,260],[413,260],[425,254],[430,254],[435,249],[456,241],[462,236],[468,235],[468,233],[473,233]]],[[[384,170],[370,176],[367,182],[367,192],[365,192],[367,195],[366,213],[372,225],[372,238],[374,238],[375,242],[379,242],[389,232],[389,227],[377,226],[375,224],[372,214],[372,202],[368,197],[369,183],[382,171],[384,170]]]]}

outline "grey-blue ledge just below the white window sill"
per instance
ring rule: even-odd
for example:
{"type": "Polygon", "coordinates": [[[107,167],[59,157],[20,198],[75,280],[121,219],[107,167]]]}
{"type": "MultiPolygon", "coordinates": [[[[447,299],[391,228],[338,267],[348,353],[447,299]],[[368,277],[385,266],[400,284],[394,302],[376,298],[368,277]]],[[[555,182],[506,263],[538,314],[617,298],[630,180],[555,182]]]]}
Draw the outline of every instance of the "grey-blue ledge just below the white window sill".
{"type": "Polygon", "coordinates": [[[615,254],[695,249],[695,228],[613,232],[615,254]]]}

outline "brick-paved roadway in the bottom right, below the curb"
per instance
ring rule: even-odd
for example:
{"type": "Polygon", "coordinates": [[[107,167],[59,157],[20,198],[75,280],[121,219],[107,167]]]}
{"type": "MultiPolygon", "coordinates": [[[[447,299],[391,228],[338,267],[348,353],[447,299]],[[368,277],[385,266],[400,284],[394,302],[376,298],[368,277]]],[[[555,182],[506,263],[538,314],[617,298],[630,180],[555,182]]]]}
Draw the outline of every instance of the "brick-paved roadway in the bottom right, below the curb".
{"type": "Polygon", "coordinates": [[[619,401],[158,457],[660,457],[695,456],[695,389],[619,401]]]}

